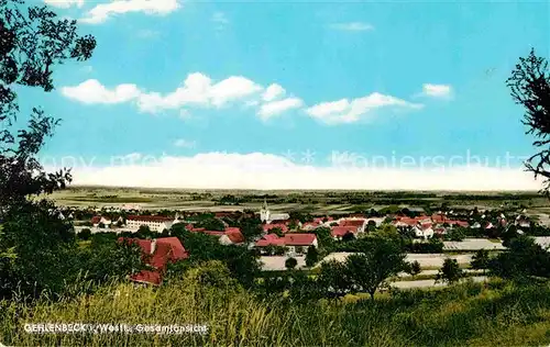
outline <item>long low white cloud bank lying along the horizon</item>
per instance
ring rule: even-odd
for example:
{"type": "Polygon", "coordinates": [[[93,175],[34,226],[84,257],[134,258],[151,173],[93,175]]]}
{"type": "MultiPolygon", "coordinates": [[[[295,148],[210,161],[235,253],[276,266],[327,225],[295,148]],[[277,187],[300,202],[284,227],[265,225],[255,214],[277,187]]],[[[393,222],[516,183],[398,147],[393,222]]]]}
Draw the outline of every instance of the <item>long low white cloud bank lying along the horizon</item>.
{"type": "MultiPolygon", "coordinates": [[[[48,170],[56,167],[47,166],[48,170]]],[[[58,169],[58,168],[57,168],[58,169]]],[[[195,189],[538,190],[517,168],[346,168],[296,165],[262,153],[117,157],[109,167],[74,167],[75,184],[195,189]],[[125,161],[124,161],[125,160],[125,161]],[[185,172],[185,175],[182,175],[185,172]],[[220,175],[220,172],[223,172],[220,175]]]]}

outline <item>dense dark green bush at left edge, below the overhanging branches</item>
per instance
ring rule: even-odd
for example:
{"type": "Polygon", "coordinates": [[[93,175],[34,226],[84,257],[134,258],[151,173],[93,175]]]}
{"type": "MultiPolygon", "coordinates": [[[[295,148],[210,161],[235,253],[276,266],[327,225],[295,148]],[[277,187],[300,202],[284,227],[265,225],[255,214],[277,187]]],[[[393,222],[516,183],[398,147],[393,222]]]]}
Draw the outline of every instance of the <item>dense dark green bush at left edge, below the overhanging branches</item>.
{"type": "Polygon", "coordinates": [[[12,206],[6,214],[0,237],[0,298],[12,291],[36,294],[62,292],[64,279],[74,272],[76,251],[70,224],[50,211],[46,201],[12,206]]]}

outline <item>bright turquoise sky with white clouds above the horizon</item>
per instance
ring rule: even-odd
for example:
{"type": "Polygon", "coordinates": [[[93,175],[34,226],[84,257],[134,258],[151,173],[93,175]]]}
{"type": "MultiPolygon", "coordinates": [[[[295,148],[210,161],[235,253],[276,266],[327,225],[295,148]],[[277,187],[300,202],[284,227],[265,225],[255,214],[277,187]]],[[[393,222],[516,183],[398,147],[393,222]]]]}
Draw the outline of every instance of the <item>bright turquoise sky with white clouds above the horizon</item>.
{"type": "Polygon", "coordinates": [[[20,92],[76,184],[540,188],[505,81],[550,56],[546,1],[44,2],[98,42],[20,92]]]}

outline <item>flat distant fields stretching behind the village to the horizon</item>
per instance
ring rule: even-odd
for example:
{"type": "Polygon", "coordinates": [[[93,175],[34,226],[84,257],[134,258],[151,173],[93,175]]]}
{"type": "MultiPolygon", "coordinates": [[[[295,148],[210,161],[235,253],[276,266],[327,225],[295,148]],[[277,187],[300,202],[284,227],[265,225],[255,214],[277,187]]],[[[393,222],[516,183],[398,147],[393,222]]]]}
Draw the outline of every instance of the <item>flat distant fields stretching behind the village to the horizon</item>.
{"type": "Polygon", "coordinates": [[[273,211],[351,213],[383,208],[527,209],[529,214],[550,213],[550,203],[536,192],[407,192],[407,191],[253,191],[70,187],[51,195],[61,205],[121,206],[187,211],[258,210],[264,199],[273,211]],[[226,197],[226,199],[224,199],[226,197]],[[230,197],[231,199],[227,199],[230,197]]]}

